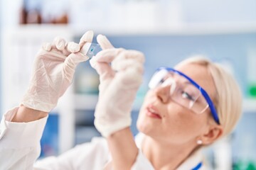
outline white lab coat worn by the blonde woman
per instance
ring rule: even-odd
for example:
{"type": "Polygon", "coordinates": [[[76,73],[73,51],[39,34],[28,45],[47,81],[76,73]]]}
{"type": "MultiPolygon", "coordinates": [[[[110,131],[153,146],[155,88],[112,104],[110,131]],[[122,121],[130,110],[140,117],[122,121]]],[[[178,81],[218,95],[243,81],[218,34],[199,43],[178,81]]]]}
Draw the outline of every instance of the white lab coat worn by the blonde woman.
{"type": "MultiPolygon", "coordinates": [[[[104,169],[110,162],[110,152],[107,142],[103,137],[95,137],[92,142],[78,145],[58,157],[47,157],[38,160],[41,152],[40,140],[47,118],[30,123],[11,123],[10,120],[16,114],[18,108],[11,109],[3,115],[0,125],[0,169],[104,169]],[[35,163],[36,162],[36,163],[35,163]]],[[[140,148],[143,135],[137,135],[135,141],[140,148]]],[[[171,152],[171,151],[170,151],[171,152]]],[[[186,159],[178,170],[194,169],[201,163],[201,152],[195,152],[186,159]]],[[[153,170],[148,159],[141,150],[132,170],[153,170]]],[[[205,169],[203,166],[199,169],[205,169]]]]}

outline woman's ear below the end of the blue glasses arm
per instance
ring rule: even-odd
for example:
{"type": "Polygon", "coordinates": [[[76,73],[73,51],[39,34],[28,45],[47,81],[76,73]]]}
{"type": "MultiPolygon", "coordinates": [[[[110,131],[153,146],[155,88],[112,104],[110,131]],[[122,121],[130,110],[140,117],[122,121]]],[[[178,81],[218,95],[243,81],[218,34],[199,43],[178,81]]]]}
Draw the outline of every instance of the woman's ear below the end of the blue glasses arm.
{"type": "Polygon", "coordinates": [[[210,145],[223,135],[223,127],[221,125],[213,125],[209,130],[201,136],[203,145],[210,145]]]}

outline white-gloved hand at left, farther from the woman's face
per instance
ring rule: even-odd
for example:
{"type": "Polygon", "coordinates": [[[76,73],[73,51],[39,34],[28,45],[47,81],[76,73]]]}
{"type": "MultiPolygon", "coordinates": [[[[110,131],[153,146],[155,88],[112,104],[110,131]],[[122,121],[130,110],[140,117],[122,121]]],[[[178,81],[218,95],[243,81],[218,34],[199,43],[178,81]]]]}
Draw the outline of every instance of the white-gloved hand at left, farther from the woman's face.
{"type": "Polygon", "coordinates": [[[65,42],[55,38],[52,43],[45,43],[33,64],[32,79],[21,104],[38,111],[50,112],[70,86],[75,67],[89,57],[82,54],[80,48],[85,42],[92,42],[93,32],[87,31],[79,44],[65,42]]]}

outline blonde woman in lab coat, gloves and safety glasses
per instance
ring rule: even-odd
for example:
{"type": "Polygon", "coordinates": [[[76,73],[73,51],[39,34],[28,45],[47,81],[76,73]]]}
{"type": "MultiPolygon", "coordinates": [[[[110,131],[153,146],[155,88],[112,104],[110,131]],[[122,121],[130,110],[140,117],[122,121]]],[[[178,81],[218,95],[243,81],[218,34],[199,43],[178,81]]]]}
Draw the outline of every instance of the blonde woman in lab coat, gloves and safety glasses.
{"type": "Polygon", "coordinates": [[[130,111],[142,82],[144,56],[116,49],[102,35],[97,37],[102,52],[90,63],[100,74],[95,127],[105,138],[33,164],[47,114],[70,84],[76,65],[87,60],[79,51],[92,36],[85,33],[79,45],[57,39],[39,52],[21,106],[1,121],[1,169],[203,169],[201,148],[228,135],[240,118],[235,80],[203,58],[184,60],[175,69],[159,68],[139,113],[142,133],[134,141],[130,111]]]}

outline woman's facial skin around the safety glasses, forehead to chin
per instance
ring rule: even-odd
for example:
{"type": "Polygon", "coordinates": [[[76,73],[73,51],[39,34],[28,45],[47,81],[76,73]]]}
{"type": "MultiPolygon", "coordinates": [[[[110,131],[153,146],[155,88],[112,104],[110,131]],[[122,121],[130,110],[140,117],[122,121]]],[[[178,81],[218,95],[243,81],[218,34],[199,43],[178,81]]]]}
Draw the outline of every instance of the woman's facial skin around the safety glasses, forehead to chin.
{"type": "MultiPolygon", "coordinates": [[[[176,69],[196,81],[213,100],[215,86],[206,67],[184,64],[176,69]]],[[[139,112],[137,128],[140,132],[163,142],[195,142],[197,137],[208,130],[209,108],[201,114],[196,114],[172,101],[169,91],[170,86],[159,86],[147,92],[139,112]]]]}

